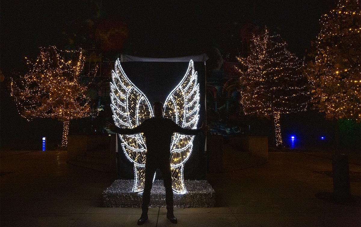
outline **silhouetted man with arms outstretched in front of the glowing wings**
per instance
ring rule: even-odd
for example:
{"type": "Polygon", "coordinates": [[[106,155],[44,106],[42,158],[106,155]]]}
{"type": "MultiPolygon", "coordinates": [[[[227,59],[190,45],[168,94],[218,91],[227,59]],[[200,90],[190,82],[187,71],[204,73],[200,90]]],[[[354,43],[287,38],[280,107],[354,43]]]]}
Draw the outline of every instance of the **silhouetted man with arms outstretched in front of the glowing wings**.
{"type": "Polygon", "coordinates": [[[184,135],[196,135],[206,132],[209,126],[202,126],[199,129],[185,129],[173,120],[164,118],[163,103],[153,103],[154,117],[146,119],[135,128],[118,128],[114,124],[106,123],[106,128],[118,134],[138,134],[143,133],[147,145],[145,161],[145,182],[143,191],[142,215],[138,220],[141,225],[148,219],[148,206],[151,198],[151,189],[155,171],[159,169],[162,173],[165,187],[165,201],[167,205],[167,218],[172,223],[177,223],[177,218],[173,214],[173,190],[170,170],[170,143],[174,132],[184,135]]]}

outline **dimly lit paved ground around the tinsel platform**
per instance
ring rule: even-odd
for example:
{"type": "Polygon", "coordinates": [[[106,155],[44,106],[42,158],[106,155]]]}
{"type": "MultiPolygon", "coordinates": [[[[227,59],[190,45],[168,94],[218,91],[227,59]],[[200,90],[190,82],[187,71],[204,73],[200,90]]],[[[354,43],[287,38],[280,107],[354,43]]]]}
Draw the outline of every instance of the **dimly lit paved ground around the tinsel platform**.
{"type": "MultiPolygon", "coordinates": [[[[176,226],[361,226],[360,207],[315,197],[332,192],[327,153],[272,152],[269,163],[209,176],[218,207],[175,209],[176,226]]],[[[350,156],[351,157],[351,156],[350,156]]],[[[360,156],[350,170],[360,172],[360,156]]],[[[66,151],[1,151],[1,226],[136,226],[139,208],[99,207],[105,173],[66,164],[66,151]]],[[[351,183],[360,195],[360,180],[351,183]]],[[[175,226],[165,208],[144,226],[175,226]]]]}

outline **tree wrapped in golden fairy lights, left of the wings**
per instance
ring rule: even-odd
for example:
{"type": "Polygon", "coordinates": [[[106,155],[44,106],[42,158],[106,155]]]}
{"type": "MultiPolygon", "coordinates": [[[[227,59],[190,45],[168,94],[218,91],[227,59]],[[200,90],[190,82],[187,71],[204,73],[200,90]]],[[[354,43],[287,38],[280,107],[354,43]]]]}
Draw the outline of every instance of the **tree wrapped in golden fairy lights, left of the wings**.
{"type": "Polygon", "coordinates": [[[56,47],[40,48],[35,61],[26,59],[29,70],[10,83],[10,95],[19,114],[28,121],[51,117],[62,121],[62,146],[68,141],[69,121],[94,114],[85,91],[79,83],[84,66],[81,50],[61,51],[56,47]]]}

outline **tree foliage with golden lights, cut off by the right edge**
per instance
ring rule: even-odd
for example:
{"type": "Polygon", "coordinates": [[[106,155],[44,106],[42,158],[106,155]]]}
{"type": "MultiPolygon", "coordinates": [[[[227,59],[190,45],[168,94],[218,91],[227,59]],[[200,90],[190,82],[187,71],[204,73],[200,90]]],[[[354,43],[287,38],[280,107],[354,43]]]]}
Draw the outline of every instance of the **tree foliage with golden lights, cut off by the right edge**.
{"type": "Polygon", "coordinates": [[[361,120],[361,17],[359,0],[340,0],[322,16],[305,74],[313,99],[329,119],[361,120]]]}

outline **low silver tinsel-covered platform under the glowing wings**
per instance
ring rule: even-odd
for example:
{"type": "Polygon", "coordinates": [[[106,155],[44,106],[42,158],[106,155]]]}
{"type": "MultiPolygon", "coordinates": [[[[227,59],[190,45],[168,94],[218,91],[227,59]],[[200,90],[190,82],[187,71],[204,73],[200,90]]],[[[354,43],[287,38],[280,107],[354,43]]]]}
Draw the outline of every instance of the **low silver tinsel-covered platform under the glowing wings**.
{"type": "MultiPolygon", "coordinates": [[[[143,193],[132,192],[134,180],[116,180],[103,192],[104,207],[141,207],[143,193]]],[[[213,207],[214,190],[206,180],[186,180],[187,193],[173,193],[174,207],[213,207]]],[[[162,180],[155,180],[151,191],[151,207],[165,207],[162,180]]]]}

